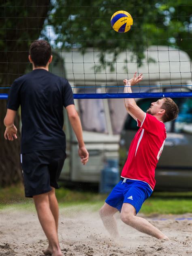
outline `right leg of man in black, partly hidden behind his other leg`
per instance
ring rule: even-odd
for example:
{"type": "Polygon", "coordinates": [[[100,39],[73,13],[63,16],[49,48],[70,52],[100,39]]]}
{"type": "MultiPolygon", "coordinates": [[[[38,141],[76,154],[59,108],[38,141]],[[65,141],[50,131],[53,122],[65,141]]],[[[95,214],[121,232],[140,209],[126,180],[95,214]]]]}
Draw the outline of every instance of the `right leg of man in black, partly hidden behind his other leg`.
{"type": "MultiPolygon", "coordinates": [[[[48,193],[48,197],[49,197],[49,207],[51,210],[51,213],[53,214],[53,217],[55,219],[55,225],[57,228],[57,232],[58,232],[58,220],[59,220],[59,207],[58,207],[58,201],[57,198],[55,196],[55,188],[52,187],[52,190],[48,193]]],[[[49,244],[47,249],[43,250],[43,253],[45,255],[51,254],[51,245],[49,244]]]]}

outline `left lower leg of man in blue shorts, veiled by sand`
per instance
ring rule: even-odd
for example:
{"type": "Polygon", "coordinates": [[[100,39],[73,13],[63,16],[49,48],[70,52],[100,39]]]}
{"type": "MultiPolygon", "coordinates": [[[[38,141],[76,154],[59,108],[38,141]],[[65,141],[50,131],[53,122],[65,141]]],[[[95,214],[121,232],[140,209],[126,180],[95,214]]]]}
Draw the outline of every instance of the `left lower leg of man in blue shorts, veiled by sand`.
{"type": "Polygon", "coordinates": [[[116,208],[111,207],[107,203],[105,203],[99,211],[102,222],[112,237],[119,237],[117,222],[114,216],[117,211],[118,210],[116,208]]]}

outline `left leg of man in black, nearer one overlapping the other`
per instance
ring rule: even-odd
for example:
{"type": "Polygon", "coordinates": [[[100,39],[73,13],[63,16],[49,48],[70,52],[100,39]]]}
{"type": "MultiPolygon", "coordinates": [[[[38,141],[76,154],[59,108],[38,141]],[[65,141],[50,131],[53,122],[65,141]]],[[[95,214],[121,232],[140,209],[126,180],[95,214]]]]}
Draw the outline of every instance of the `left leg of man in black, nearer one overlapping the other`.
{"type": "Polygon", "coordinates": [[[49,241],[50,252],[52,256],[62,256],[58,241],[57,227],[55,225],[55,219],[51,213],[49,206],[49,193],[33,196],[38,219],[41,223],[43,231],[49,241]]]}

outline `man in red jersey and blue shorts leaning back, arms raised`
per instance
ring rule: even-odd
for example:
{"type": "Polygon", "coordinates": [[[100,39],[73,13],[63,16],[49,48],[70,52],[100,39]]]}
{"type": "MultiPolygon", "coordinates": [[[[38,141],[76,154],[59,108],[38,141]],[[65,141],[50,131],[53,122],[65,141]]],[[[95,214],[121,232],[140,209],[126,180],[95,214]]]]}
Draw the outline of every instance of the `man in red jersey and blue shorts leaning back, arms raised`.
{"type": "MultiPolygon", "coordinates": [[[[131,86],[143,79],[140,74],[124,80],[124,93],[132,93],[131,86]]],[[[178,107],[170,98],[158,99],[151,103],[147,113],[139,108],[134,99],[124,99],[127,112],[140,127],[129,148],[128,158],[122,170],[122,181],[100,209],[100,217],[105,228],[113,237],[118,237],[114,214],[119,211],[124,223],[158,239],[169,238],[146,219],[136,216],[143,202],[151,196],[155,186],[155,168],[166,139],[165,122],[174,120],[178,107]]]]}

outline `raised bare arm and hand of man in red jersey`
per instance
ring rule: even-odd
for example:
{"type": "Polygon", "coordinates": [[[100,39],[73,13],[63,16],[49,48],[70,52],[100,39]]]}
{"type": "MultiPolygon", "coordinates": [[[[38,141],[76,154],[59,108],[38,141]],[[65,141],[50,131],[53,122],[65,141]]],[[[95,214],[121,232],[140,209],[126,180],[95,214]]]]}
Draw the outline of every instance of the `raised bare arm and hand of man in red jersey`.
{"type": "MultiPolygon", "coordinates": [[[[134,73],[134,76],[132,79],[125,79],[123,80],[125,88],[124,93],[132,93],[131,86],[134,84],[139,83],[143,79],[143,74],[140,74],[136,77],[137,72],[134,73]]],[[[132,98],[124,99],[125,107],[127,112],[132,116],[135,120],[138,119],[141,123],[143,119],[145,118],[145,112],[139,108],[132,98]]]]}

